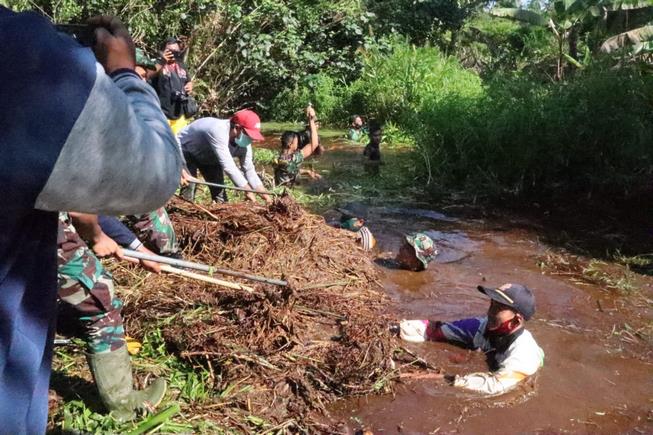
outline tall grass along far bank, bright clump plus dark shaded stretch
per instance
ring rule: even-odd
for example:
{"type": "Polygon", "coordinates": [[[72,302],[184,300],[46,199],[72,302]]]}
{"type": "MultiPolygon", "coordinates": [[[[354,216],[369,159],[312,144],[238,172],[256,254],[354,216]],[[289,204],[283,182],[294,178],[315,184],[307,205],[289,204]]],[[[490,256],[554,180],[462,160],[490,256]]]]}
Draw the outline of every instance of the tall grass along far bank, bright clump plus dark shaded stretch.
{"type": "Polygon", "coordinates": [[[343,106],[412,136],[425,180],[486,193],[616,191],[653,174],[653,79],[600,64],[566,82],[476,73],[432,47],[368,55],[343,106]]]}

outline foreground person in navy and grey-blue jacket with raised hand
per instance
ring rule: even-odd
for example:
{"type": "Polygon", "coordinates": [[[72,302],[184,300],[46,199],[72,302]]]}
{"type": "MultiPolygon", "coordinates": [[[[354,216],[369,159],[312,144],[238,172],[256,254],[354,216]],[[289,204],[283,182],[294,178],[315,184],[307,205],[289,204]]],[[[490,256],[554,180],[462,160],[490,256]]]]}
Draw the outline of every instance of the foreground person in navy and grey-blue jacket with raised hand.
{"type": "Polygon", "coordinates": [[[181,156],[119,20],[93,52],[0,7],[0,433],[43,433],[56,313],[57,211],[133,214],[174,193],[181,156]]]}

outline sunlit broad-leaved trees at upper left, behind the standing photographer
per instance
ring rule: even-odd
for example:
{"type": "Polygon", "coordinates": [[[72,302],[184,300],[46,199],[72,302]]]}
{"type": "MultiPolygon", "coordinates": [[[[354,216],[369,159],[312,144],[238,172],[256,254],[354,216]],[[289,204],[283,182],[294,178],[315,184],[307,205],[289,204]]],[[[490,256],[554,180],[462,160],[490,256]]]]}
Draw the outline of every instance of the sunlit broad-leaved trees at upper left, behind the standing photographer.
{"type": "Polygon", "coordinates": [[[204,113],[269,110],[279,92],[326,73],[351,80],[372,14],[359,0],[8,0],[57,23],[117,15],[138,46],[157,56],[169,36],[189,38],[188,65],[204,113]]]}

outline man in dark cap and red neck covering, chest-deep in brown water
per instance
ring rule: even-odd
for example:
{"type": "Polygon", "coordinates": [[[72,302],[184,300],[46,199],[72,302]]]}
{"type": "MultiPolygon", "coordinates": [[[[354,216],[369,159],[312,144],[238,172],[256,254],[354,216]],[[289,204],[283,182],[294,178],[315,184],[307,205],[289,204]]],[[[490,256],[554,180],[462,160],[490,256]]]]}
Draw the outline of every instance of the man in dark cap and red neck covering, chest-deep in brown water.
{"type": "Polygon", "coordinates": [[[544,364],[544,351],[524,324],[535,313],[535,297],[525,286],[504,284],[498,288],[478,286],[489,296],[485,317],[454,322],[402,320],[399,335],[411,342],[443,341],[480,350],[487,355],[490,372],[468,375],[407,374],[413,379],[444,379],[453,386],[478,393],[503,394],[544,364]]]}

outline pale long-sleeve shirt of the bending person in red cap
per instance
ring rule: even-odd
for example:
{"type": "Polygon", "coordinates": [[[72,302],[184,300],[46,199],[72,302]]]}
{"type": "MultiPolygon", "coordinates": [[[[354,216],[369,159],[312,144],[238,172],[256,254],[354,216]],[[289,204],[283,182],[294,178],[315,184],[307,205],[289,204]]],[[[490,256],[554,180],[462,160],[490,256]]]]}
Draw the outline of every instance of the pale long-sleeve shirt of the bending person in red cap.
{"type": "Polygon", "coordinates": [[[252,146],[230,144],[228,119],[200,118],[177,135],[181,149],[205,165],[220,165],[238,187],[247,183],[256,189],[263,185],[254,167],[252,146]],[[240,161],[240,168],[234,158],[240,161]],[[241,171],[242,169],[242,171],[241,171]]]}

